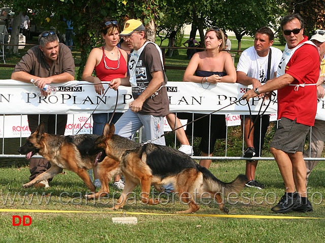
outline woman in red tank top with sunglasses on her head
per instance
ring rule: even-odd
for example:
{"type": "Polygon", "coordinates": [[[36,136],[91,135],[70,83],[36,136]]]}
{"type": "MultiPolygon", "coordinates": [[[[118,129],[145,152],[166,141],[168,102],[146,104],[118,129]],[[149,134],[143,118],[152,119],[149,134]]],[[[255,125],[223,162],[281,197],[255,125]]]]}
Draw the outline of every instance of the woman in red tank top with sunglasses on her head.
{"type": "MultiPolygon", "coordinates": [[[[119,42],[119,27],[116,20],[104,19],[101,22],[101,33],[105,41],[104,46],[93,48],[87,58],[85,69],[82,73],[82,80],[94,83],[95,92],[102,96],[104,94],[105,88],[109,88],[107,83],[113,78],[123,78],[126,76],[127,66],[127,53],[118,48],[117,44],[119,42]],[[96,76],[92,73],[95,70],[96,76]]],[[[112,102],[115,102],[112,101],[112,102]]],[[[115,113],[113,123],[116,123],[117,119],[122,115],[122,113],[115,113]]],[[[108,122],[108,113],[94,113],[93,118],[93,134],[102,135],[105,124],[108,122]]],[[[95,186],[98,179],[96,179],[96,170],[94,170],[95,186]]],[[[114,177],[114,186],[121,185],[120,177],[114,177]]],[[[98,181],[99,182],[99,181],[98,181]]],[[[117,186],[119,190],[121,187],[117,186]]]]}

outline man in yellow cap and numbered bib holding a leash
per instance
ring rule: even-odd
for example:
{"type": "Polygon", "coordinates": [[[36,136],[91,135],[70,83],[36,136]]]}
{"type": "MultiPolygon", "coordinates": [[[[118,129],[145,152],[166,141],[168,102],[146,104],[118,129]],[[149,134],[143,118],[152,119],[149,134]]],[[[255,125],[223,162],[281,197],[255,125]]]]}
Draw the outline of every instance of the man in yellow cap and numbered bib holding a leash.
{"type": "MultiPolygon", "coordinates": [[[[164,134],[164,116],[169,113],[166,84],[160,48],[147,41],[146,29],[141,21],[129,19],[120,36],[130,48],[129,76],[113,79],[110,87],[132,86],[134,101],[115,124],[115,134],[131,137],[144,126],[145,141],[164,134]]],[[[165,138],[152,143],[165,145],[165,138]]]]}

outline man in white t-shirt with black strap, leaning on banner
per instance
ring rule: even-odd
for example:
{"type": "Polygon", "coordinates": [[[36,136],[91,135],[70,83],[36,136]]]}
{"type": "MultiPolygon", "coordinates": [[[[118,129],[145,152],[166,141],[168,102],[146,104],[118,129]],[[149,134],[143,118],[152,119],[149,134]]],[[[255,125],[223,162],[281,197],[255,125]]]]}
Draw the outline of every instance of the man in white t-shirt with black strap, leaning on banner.
{"type": "MultiPolygon", "coordinates": [[[[237,82],[244,85],[253,85],[257,88],[268,79],[276,77],[282,51],[271,47],[273,45],[274,33],[269,27],[260,27],[255,33],[254,46],[249,47],[240,56],[237,65],[237,82]],[[269,58],[271,64],[269,65],[269,58]],[[270,66],[268,76],[268,66],[270,66]]],[[[261,98],[261,96],[259,96],[261,98]]],[[[244,130],[244,140],[246,150],[243,157],[252,158],[261,156],[262,146],[266,131],[270,123],[270,115],[253,115],[252,120],[248,115],[242,116],[242,127],[244,130]],[[254,120],[257,119],[255,126],[254,120]],[[249,134],[249,136],[248,136],[249,134]]],[[[246,161],[246,176],[248,178],[247,187],[263,189],[264,186],[254,179],[257,160],[246,161]]]]}

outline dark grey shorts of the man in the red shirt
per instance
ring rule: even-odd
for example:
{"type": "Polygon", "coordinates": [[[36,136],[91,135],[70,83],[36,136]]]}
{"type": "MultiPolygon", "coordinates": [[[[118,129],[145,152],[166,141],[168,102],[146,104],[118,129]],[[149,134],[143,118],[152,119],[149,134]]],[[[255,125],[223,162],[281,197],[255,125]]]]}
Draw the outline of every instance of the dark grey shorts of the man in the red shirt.
{"type": "Polygon", "coordinates": [[[310,126],[297,123],[295,120],[282,117],[273,136],[270,147],[282,150],[286,153],[303,152],[306,135],[310,126]]]}

